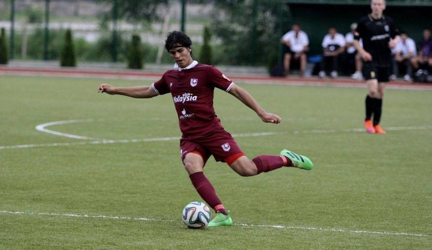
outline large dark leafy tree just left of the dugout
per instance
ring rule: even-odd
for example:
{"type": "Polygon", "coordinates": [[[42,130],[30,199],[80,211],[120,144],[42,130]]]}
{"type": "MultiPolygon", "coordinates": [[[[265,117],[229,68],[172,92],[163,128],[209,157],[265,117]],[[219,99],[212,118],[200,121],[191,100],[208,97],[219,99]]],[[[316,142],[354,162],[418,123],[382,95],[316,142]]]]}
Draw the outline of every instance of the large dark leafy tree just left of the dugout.
{"type": "Polygon", "coordinates": [[[284,8],[279,0],[218,0],[214,5],[212,29],[222,41],[224,63],[266,65],[277,58],[282,25],[277,13],[284,8]]]}

